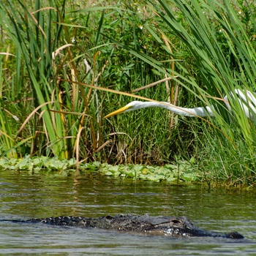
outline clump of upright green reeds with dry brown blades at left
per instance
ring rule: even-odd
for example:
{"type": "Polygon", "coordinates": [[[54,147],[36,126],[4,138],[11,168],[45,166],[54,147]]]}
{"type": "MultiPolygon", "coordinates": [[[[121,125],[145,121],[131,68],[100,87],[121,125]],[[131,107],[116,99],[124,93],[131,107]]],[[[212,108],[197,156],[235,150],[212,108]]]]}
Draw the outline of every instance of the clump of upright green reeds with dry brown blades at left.
{"type": "MultiPolygon", "coordinates": [[[[29,124],[31,155],[88,159],[92,156],[92,151],[101,146],[101,137],[97,137],[96,132],[100,126],[93,124],[89,113],[89,103],[91,98],[97,97],[97,93],[86,91],[76,83],[80,82],[81,74],[75,60],[84,58],[86,54],[77,56],[75,50],[70,50],[75,48],[72,44],[75,29],[69,31],[70,26],[65,23],[66,2],[63,1],[61,6],[54,6],[53,1],[50,1],[50,6],[42,4],[45,2],[35,1],[35,9],[32,11],[23,1],[17,1],[15,7],[12,1],[0,3],[2,29],[17,53],[16,80],[20,77],[20,67],[25,66],[29,78],[26,80],[29,83],[28,94],[33,102],[31,113],[23,118],[16,134],[5,136],[12,141],[7,148],[15,148],[15,144],[24,140],[29,124]],[[70,82],[62,82],[60,78],[70,82]],[[84,145],[83,148],[80,145],[84,145]]],[[[93,71],[83,73],[83,79],[91,83],[97,80],[97,70],[94,69],[97,65],[97,50],[94,52],[94,63],[91,67],[88,65],[93,71]],[[93,75],[90,77],[91,74],[93,75]]],[[[17,83],[15,91],[18,91],[18,96],[22,94],[19,87],[23,90],[25,86],[17,83]]],[[[101,102],[95,104],[94,108],[99,111],[101,102]]],[[[7,134],[4,132],[5,130],[2,134],[7,134]]]]}

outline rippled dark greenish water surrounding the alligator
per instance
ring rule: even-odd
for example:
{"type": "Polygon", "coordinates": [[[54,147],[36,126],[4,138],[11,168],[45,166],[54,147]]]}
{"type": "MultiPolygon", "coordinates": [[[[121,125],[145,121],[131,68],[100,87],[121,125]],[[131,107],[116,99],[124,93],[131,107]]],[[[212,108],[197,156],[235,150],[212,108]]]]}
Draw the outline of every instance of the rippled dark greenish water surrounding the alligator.
{"type": "Polygon", "coordinates": [[[108,214],[187,216],[200,228],[246,238],[170,238],[0,222],[0,255],[256,255],[255,192],[73,173],[0,170],[0,219],[108,214]]]}

